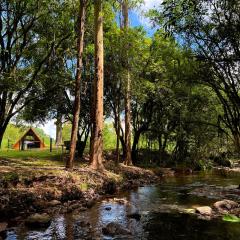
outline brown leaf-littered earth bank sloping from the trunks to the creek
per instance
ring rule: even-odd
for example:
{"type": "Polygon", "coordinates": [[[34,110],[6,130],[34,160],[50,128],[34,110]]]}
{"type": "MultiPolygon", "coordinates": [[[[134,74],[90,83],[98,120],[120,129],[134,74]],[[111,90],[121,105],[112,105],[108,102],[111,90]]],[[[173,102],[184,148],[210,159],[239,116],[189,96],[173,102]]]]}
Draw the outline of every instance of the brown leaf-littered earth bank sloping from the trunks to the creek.
{"type": "Polygon", "coordinates": [[[113,161],[105,163],[103,172],[90,169],[86,163],[66,171],[57,165],[31,166],[32,161],[21,165],[1,159],[0,222],[36,213],[84,211],[102,197],[159,180],[151,170],[123,164],[116,167],[113,161]]]}

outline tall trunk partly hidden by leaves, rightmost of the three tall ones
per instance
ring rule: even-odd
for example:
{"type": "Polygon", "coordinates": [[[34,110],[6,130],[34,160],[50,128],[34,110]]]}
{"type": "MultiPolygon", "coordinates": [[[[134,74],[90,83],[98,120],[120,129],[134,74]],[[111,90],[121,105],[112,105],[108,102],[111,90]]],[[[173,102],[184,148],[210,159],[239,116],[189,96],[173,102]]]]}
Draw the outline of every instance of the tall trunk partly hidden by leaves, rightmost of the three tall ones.
{"type": "MultiPolygon", "coordinates": [[[[123,11],[123,26],[124,30],[127,33],[128,30],[128,0],[124,0],[122,4],[123,11]]],[[[127,49],[128,51],[128,49],[127,49]]],[[[125,86],[125,144],[126,144],[126,156],[125,156],[125,164],[132,165],[132,157],[131,157],[131,76],[129,71],[129,59],[128,53],[126,56],[126,86],[125,86]]]]}

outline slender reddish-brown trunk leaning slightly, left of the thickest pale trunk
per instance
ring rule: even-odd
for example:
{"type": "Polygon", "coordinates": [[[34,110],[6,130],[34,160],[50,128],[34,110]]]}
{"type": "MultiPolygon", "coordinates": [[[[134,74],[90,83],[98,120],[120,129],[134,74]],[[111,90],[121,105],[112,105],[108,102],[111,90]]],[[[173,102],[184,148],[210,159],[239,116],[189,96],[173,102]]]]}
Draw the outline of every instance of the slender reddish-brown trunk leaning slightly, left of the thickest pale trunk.
{"type": "Polygon", "coordinates": [[[82,75],[82,57],[84,48],[84,33],[85,33],[85,21],[86,21],[86,8],[88,0],[80,0],[79,9],[79,31],[77,40],[77,73],[75,83],[75,100],[74,100],[74,112],[73,112],[73,123],[70,143],[70,154],[66,162],[66,168],[72,169],[74,156],[76,151],[77,133],[78,133],[78,122],[80,114],[80,100],[81,100],[81,75],[82,75]]]}

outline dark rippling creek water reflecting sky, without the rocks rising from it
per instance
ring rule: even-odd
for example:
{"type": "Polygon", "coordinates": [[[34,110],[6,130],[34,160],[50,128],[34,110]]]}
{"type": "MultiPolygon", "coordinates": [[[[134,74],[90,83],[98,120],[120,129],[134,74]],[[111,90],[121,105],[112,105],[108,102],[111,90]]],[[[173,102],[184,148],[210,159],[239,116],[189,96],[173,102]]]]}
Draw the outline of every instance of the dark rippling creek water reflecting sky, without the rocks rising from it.
{"type": "Polygon", "coordinates": [[[240,201],[239,191],[231,191],[239,181],[239,177],[215,175],[170,178],[159,185],[139,187],[118,196],[128,204],[108,199],[79,215],[56,216],[48,229],[33,231],[15,226],[8,231],[6,239],[239,240],[240,223],[223,222],[221,219],[207,221],[179,213],[179,209],[211,205],[226,196],[240,201]],[[141,214],[140,221],[127,216],[135,212],[141,214]],[[121,224],[132,235],[104,236],[102,227],[110,222],[121,224]]]}

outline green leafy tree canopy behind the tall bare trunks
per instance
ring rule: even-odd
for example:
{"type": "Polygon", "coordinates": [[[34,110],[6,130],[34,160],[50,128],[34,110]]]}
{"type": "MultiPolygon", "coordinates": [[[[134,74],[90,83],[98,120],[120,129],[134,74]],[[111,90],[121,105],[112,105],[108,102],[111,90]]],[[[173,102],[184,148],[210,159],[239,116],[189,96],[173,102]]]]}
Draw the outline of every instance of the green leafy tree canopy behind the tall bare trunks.
{"type": "MultiPolygon", "coordinates": [[[[63,127],[63,140],[69,141],[73,117],[79,1],[40,2],[41,5],[36,0],[10,2],[9,6],[13,9],[11,13],[19,10],[22,14],[20,17],[26,20],[25,25],[23,24],[25,27],[32,18],[36,19],[31,29],[26,32],[29,42],[23,46],[21,57],[16,59],[19,61],[16,68],[8,66],[9,71],[5,69],[4,74],[1,74],[4,76],[0,79],[1,84],[7,95],[3,94],[0,88],[0,100],[3,103],[3,97],[9,96],[6,104],[8,106],[13,103],[11,97],[20,94],[19,101],[12,108],[17,109],[17,112],[11,113],[11,117],[17,114],[20,122],[46,122],[60,115],[62,121],[68,121],[63,127]],[[21,89],[24,89],[23,93],[21,89]]],[[[128,1],[129,8],[137,7],[141,2],[128,1]]],[[[222,57],[219,55],[221,52],[216,50],[218,48],[209,47],[215,46],[215,43],[226,46],[225,41],[222,41],[226,34],[221,30],[221,25],[216,22],[213,24],[214,16],[217,15],[205,11],[208,9],[206,4],[202,4],[205,2],[163,1],[164,12],[152,10],[149,16],[156,24],[162,26],[165,23],[166,29],[160,28],[151,38],[142,27],[129,26],[121,29],[117,20],[121,1],[104,2],[104,114],[107,119],[104,127],[105,150],[116,148],[118,117],[122,120],[125,114],[124,97],[128,73],[131,80],[133,153],[142,151],[148,155],[146,162],[151,161],[156,165],[167,162],[166,164],[190,164],[197,169],[206,169],[209,167],[209,155],[229,150],[227,135],[234,130],[230,126],[239,121],[232,121],[234,119],[231,118],[229,120],[227,115],[236,116],[235,120],[240,116],[232,114],[232,111],[237,112],[239,101],[235,100],[238,100],[239,96],[234,84],[232,90],[235,89],[235,92],[224,89],[229,84],[227,82],[227,85],[224,85],[226,82],[220,81],[222,75],[219,77],[218,74],[213,74],[213,61],[199,61],[202,56],[206,57],[202,48],[208,53],[214,52],[214,57],[222,57]],[[196,26],[201,27],[204,36],[212,37],[212,45],[205,46],[204,39],[198,42],[200,45],[193,41],[194,35],[191,34],[199,34],[195,31],[198,30],[196,26]],[[215,27],[216,31],[212,31],[215,27]],[[177,38],[174,39],[176,35],[170,36],[169,32],[178,34],[177,38]],[[220,32],[221,36],[216,34],[220,32]],[[190,38],[187,38],[189,36],[190,38]],[[235,97],[232,99],[229,96],[235,97]],[[227,100],[225,108],[222,107],[224,100],[227,100]],[[114,126],[109,123],[112,119],[114,126]]],[[[235,0],[233,3],[233,7],[226,6],[227,11],[235,11],[235,0]]],[[[7,1],[1,4],[5,6],[7,1]]],[[[219,6],[223,7],[222,4],[219,6]]],[[[14,15],[10,16],[14,21],[14,15]]],[[[87,146],[95,71],[93,19],[93,2],[90,1],[84,39],[78,131],[78,139],[87,142],[87,146]]],[[[13,60],[20,51],[20,43],[24,41],[24,34],[21,33],[26,30],[21,24],[16,26],[19,42],[13,41],[13,54],[9,56],[13,60]]],[[[223,29],[227,30],[227,26],[224,25],[223,29]]],[[[232,34],[229,31],[228,33],[232,34]]],[[[234,39],[236,36],[233,36],[234,39]]],[[[226,42],[231,43],[232,40],[226,38],[226,42]]],[[[7,109],[6,106],[2,109],[7,109]]],[[[1,114],[4,118],[7,116],[6,113],[1,114]]],[[[122,121],[120,123],[120,139],[124,149],[124,124],[122,121]]],[[[2,126],[0,130],[4,131],[2,126]]],[[[10,124],[4,134],[3,148],[7,146],[7,139],[13,144],[25,129],[18,129],[10,124]]],[[[40,129],[37,129],[37,132],[46,143],[49,137],[40,129]]]]}

